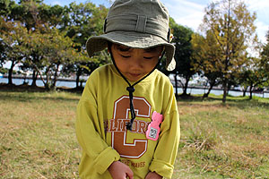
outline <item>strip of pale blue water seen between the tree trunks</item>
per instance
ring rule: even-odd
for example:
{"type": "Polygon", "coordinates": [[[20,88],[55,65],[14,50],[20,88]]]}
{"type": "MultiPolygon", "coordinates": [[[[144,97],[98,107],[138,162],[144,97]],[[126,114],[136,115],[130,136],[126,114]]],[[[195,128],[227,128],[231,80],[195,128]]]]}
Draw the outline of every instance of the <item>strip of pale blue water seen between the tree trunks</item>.
{"type": "MultiPolygon", "coordinates": [[[[13,84],[15,85],[21,85],[23,83],[23,79],[13,79],[13,84]]],[[[29,84],[31,84],[32,80],[26,80],[29,84]]],[[[0,83],[7,83],[6,78],[0,78],[0,83]]],[[[40,80],[37,80],[37,85],[38,86],[44,86],[43,82],[40,80]]],[[[85,82],[82,84],[83,86],[85,85],[85,82]]],[[[75,82],[74,81],[56,81],[56,86],[57,87],[67,87],[67,88],[74,88],[75,87],[75,82]]],[[[204,94],[207,90],[204,89],[187,89],[187,94],[204,94]]],[[[178,93],[182,93],[182,89],[178,88],[178,93]]],[[[222,95],[223,90],[211,90],[211,93],[214,95],[222,95]]],[[[234,91],[230,90],[229,95],[234,96],[234,97],[239,97],[243,95],[243,92],[241,91],[234,91]]],[[[246,93],[247,96],[249,96],[249,93],[246,93]]],[[[269,93],[252,93],[253,96],[257,97],[262,97],[262,98],[269,98],[269,93]]]]}

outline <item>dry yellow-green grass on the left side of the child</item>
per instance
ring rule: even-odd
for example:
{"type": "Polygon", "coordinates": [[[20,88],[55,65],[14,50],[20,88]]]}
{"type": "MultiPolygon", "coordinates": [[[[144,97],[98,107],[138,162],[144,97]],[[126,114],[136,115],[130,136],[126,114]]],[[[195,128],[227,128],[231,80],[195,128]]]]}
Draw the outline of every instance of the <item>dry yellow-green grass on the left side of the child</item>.
{"type": "Polygon", "coordinates": [[[0,178],[77,178],[79,96],[0,93],[0,178]]]}

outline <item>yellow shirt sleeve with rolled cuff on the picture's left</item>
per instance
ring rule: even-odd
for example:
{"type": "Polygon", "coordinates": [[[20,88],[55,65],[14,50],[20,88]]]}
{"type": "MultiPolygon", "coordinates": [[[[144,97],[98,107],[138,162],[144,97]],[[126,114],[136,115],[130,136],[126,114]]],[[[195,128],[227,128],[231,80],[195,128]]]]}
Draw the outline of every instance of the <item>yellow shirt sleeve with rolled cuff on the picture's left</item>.
{"type": "Polygon", "coordinates": [[[119,159],[119,154],[105,141],[103,123],[98,118],[93,94],[91,86],[86,84],[77,106],[75,130],[83,153],[91,158],[97,172],[103,174],[108,166],[119,159]]]}

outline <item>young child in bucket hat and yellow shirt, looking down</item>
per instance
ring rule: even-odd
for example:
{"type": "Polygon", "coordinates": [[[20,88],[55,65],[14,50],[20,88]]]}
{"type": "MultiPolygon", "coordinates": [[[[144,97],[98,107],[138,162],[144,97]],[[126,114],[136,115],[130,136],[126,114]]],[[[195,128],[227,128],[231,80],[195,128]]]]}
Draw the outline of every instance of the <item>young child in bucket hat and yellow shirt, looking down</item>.
{"type": "Polygon", "coordinates": [[[87,41],[90,56],[108,47],[113,64],[91,73],[77,107],[81,178],[171,178],[179,116],[169,78],[156,70],[166,55],[173,70],[169,13],[159,0],[116,0],[105,34],[87,41]]]}

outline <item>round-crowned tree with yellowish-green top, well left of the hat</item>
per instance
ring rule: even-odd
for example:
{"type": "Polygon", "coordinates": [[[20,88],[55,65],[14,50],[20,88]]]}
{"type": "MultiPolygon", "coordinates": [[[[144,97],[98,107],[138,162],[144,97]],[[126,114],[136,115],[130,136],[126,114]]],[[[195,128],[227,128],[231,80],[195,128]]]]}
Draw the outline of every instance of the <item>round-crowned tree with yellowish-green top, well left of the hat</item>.
{"type": "Polygon", "coordinates": [[[28,41],[31,51],[26,63],[33,66],[39,73],[41,81],[47,90],[56,88],[56,81],[65,62],[73,61],[76,56],[74,43],[71,38],[65,37],[64,32],[56,28],[48,29],[47,33],[35,31],[28,41]],[[39,58],[34,58],[35,52],[39,58]]]}

